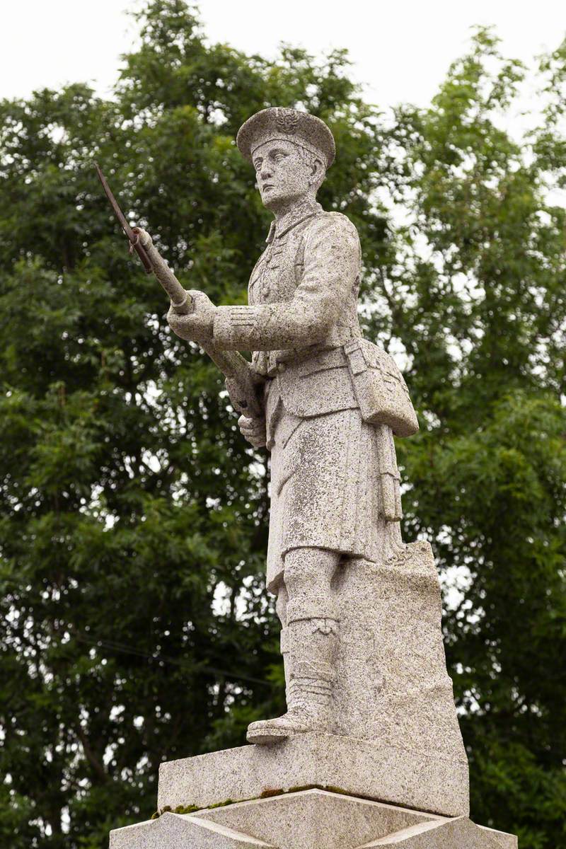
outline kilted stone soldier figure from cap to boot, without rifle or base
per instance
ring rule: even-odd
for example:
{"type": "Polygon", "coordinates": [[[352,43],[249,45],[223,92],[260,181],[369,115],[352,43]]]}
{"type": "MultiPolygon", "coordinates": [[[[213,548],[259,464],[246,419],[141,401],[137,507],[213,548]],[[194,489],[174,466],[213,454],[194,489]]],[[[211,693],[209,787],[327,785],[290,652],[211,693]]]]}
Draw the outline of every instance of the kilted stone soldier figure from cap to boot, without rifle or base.
{"type": "Polygon", "coordinates": [[[238,424],[271,453],[266,582],[277,595],[288,703],[282,717],[249,726],[249,742],[266,744],[329,728],[340,630],[333,577],[349,559],[401,551],[393,434],[414,433],[417,419],[395,363],[361,335],[356,228],[316,200],[332,133],[277,107],[249,118],[237,143],[275,216],[249,306],[214,306],[191,291],[193,312],[167,318],[183,339],[253,351],[264,415],[238,424]]]}

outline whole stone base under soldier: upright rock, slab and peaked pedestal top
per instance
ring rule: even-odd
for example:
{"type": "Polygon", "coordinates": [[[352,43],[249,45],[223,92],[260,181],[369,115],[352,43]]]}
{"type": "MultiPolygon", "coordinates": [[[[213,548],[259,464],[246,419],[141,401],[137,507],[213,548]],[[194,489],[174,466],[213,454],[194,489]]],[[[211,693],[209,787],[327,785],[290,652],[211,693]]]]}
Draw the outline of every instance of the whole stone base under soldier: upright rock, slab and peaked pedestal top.
{"type": "Polygon", "coordinates": [[[383,564],[350,561],[334,583],[329,733],[163,763],[160,817],[112,832],[110,849],[517,846],[468,818],[468,760],[429,544],[404,546],[383,564]]]}

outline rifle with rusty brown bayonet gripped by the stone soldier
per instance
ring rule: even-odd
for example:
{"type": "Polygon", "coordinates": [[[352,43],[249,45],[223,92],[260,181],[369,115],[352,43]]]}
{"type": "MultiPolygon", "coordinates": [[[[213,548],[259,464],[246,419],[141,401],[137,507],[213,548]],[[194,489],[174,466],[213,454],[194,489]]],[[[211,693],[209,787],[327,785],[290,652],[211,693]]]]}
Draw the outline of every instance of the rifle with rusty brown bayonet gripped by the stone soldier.
{"type": "MultiPolygon", "coordinates": [[[[135,250],[137,256],[143,262],[146,273],[154,273],[167,295],[169,295],[171,306],[177,312],[177,315],[188,315],[188,313],[193,312],[194,305],[191,296],[183,289],[175,274],[171,271],[171,268],[154,245],[144,247],[141,244],[136,228],[131,228],[126,221],[126,216],[120,210],[120,206],[114,194],[112,194],[103,172],[96,162],[94,166],[104,188],[104,194],[106,194],[114,214],[130,242],[130,253],[135,250]]],[[[221,373],[224,374],[226,388],[233,407],[245,416],[255,419],[263,418],[263,410],[256,391],[256,387],[260,381],[255,377],[248,361],[238,351],[221,351],[221,349],[208,343],[206,345],[201,343],[201,347],[208,354],[212,362],[220,368],[221,373]]]]}

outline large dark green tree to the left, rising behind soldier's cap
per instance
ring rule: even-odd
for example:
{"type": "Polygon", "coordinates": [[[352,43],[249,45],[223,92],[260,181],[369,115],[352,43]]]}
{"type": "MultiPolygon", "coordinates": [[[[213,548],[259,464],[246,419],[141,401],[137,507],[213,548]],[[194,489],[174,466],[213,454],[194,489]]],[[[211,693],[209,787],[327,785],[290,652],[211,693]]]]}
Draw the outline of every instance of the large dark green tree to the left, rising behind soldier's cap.
{"type": "Polygon", "coordinates": [[[264,105],[301,101],[344,141],[326,202],[347,204],[348,186],[384,232],[368,200],[373,113],[344,54],[313,65],[285,49],[270,64],[210,48],[171,0],[140,27],[114,99],[76,85],[0,106],[0,823],[13,849],[105,846],[153,811],[162,759],[240,744],[249,718],[283,708],[262,592],[266,458],[239,436],[216,369],[169,332],[93,161],[182,280],[244,301],[269,216],[233,138],[264,105]],[[356,160],[368,169],[354,186],[356,160]]]}

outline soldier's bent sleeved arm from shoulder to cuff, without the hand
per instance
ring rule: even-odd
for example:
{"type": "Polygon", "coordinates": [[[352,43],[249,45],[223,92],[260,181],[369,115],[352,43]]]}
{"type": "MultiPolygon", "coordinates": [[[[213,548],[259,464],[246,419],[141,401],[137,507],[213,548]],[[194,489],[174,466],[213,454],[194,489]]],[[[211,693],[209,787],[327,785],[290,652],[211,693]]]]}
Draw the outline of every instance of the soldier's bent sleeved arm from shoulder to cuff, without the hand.
{"type": "Polygon", "coordinates": [[[306,236],[305,268],[291,301],[219,306],[214,344],[225,351],[272,351],[322,340],[339,318],[359,273],[360,243],[345,216],[324,216],[306,236]]]}

